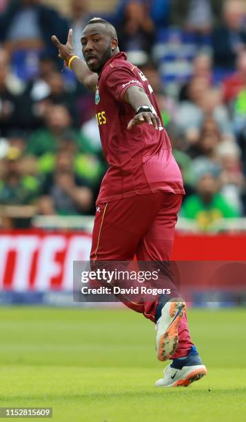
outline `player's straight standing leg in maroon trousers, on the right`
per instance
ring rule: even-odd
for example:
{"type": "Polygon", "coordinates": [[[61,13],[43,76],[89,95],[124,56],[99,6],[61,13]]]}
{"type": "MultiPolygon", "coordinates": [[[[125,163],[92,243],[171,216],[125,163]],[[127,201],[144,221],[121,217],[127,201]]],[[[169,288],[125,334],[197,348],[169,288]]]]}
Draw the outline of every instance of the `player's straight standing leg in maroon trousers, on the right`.
{"type": "MultiPolygon", "coordinates": [[[[181,208],[182,195],[163,194],[163,205],[156,214],[150,230],[139,244],[136,257],[138,261],[170,261],[174,243],[174,230],[178,211],[181,208]]],[[[144,314],[147,318],[155,318],[158,301],[145,303],[144,314]]],[[[187,316],[183,315],[178,325],[178,349],[174,358],[186,356],[193,343],[187,326],[187,316]]]]}

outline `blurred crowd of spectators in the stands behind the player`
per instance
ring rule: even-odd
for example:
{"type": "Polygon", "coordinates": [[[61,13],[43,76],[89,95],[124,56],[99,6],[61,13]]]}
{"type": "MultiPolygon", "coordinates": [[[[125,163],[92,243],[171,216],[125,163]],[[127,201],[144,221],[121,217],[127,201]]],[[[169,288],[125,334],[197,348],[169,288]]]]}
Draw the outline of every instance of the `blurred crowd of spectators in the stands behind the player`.
{"type": "MultiPolygon", "coordinates": [[[[57,57],[75,53],[94,17],[68,0],[69,18],[41,0],[0,0],[0,218],[94,214],[107,164],[94,98],[57,57]]],[[[97,13],[98,14],[98,13],[97,13]]],[[[185,182],[181,216],[209,230],[246,215],[246,0],[119,0],[121,50],[150,81],[185,182]]]]}

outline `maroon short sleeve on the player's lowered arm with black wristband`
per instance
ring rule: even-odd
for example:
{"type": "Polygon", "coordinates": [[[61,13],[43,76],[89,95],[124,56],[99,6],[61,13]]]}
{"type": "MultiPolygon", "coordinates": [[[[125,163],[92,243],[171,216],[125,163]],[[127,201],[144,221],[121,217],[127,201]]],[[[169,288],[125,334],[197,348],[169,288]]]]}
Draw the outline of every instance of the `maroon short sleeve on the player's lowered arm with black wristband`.
{"type": "Polygon", "coordinates": [[[130,86],[139,86],[144,89],[136,75],[125,67],[112,68],[111,72],[105,77],[105,85],[117,101],[124,101],[125,91],[130,86]]]}

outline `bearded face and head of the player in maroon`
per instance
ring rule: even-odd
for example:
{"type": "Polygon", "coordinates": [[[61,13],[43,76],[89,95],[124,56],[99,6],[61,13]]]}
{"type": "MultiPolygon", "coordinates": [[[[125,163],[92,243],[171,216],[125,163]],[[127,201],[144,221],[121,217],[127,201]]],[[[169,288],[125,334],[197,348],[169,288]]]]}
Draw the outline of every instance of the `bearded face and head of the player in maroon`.
{"type": "Polygon", "coordinates": [[[86,26],[81,43],[88,68],[95,73],[101,72],[106,61],[112,57],[112,48],[117,47],[117,40],[110,36],[102,23],[86,26]]]}

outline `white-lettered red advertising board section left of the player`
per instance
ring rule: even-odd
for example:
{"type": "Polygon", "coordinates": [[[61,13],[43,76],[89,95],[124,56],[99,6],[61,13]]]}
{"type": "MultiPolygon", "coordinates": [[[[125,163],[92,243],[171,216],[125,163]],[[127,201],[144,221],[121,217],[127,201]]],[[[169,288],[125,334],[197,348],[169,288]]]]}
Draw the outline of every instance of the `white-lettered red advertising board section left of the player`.
{"type": "Polygon", "coordinates": [[[72,290],[72,263],[88,261],[90,246],[84,233],[0,234],[0,290],[72,290]]]}

